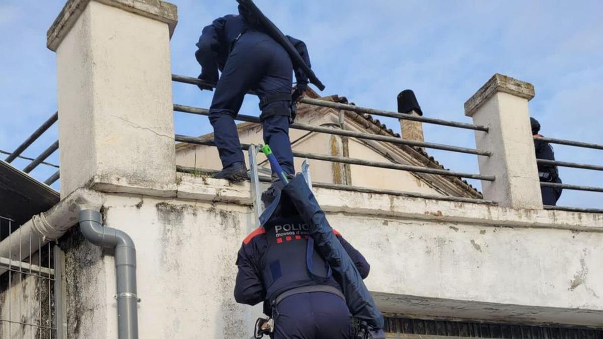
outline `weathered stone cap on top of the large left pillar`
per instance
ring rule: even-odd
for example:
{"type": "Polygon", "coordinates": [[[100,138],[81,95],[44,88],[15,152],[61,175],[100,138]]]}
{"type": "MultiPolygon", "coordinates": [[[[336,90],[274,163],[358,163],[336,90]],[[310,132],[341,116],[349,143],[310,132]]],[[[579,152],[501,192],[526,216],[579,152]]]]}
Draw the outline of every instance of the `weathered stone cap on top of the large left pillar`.
{"type": "Polygon", "coordinates": [[[177,7],[160,0],[68,0],[46,33],[46,46],[51,51],[57,51],[58,45],[69,33],[90,1],[101,2],[101,4],[165,22],[168,24],[170,37],[174,34],[178,23],[177,7]]]}

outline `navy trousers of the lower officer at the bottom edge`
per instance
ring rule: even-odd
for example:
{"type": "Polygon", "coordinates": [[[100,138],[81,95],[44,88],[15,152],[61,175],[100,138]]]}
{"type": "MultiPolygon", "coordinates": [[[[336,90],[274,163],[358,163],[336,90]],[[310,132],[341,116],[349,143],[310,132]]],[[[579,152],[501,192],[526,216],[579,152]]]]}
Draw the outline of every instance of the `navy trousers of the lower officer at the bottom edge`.
{"type": "Polygon", "coordinates": [[[334,294],[301,293],[283,299],[273,312],[274,339],[350,339],[352,314],[334,294]]]}

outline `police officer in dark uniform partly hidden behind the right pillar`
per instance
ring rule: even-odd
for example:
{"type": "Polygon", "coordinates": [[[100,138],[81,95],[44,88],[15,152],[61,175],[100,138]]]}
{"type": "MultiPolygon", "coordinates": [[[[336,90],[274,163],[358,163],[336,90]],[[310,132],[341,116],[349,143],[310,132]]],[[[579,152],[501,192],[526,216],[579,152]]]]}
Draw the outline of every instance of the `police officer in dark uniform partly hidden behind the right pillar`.
{"type": "MultiPolygon", "coordinates": [[[[540,139],[543,138],[543,136],[538,134],[540,132],[540,123],[534,118],[529,119],[532,127],[532,135],[534,135],[536,159],[555,160],[555,151],[553,150],[551,144],[540,139]]],[[[541,182],[561,183],[559,170],[555,165],[538,163],[538,177],[540,177],[541,182]]],[[[545,205],[555,206],[563,189],[556,187],[541,187],[540,191],[542,192],[542,203],[545,205]]]]}

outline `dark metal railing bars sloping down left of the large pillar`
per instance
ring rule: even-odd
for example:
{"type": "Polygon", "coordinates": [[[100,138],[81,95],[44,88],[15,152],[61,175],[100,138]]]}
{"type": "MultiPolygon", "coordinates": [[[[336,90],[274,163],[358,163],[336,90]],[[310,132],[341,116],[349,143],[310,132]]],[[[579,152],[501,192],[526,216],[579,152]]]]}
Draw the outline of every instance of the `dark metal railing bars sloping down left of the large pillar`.
{"type": "MultiPolygon", "coordinates": [[[[21,155],[25,150],[27,150],[28,147],[31,146],[31,144],[33,144],[37,139],[39,139],[40,136],[42,136],[48,130],[48,128],[50,128],[52,125],[54,125],[54,123],[57,121],[58,121],[58,112],[55,112],[50,118],[48,118],[48,120],[46,120],[30,136],[28,136],[28,138],[25,139],[25,141],[21,145],[19,145],[19,147],[17,147],[13,152],[8,153],[6,151],[0,151],[0,153],[8,154],[8,157],[6,159],[4,159],[4,161],[11,163],[17,158],[24,159],[24,160],[31,160],[31,162],[27,166],[25,166],[25,168],[23,169],[23,171],[25,173],[31,173],[31,171],[36,169],[37,166],[39,166],[40,164],[58,168],[58,165],[55,165],[54,163],[45,162],[45,160],[48,159],[48,157],[51,156],[52,153],[54,153],[55,151],[58,150],[58,140],[53,142],[52,145],[50,145],[48,148],[46,148],[46,150],[44,150],[35,159],[21,155]]],[[[48,177],[48,179],[46,179],[44,181],[44,183],[46,185],[52,185],[59,178],[60,178],[59,171],[56,171],[54,174],[52,174],[52,176],[48,177]]]]}

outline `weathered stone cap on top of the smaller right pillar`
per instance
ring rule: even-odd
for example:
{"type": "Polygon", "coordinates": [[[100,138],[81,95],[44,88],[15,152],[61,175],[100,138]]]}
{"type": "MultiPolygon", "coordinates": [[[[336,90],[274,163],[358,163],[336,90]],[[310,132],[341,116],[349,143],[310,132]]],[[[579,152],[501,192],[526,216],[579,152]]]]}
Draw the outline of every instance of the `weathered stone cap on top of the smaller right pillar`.
{"type": "Polygon", "coordinates": [[[509,93],[517,97],[526,98],[528,101],[534,98],[534,86],[531,83],[497,73],[473,97],[466,101],[465,115],[473,116],[473,113],[496,92],[509,93]]]}

